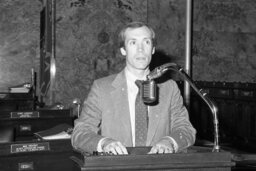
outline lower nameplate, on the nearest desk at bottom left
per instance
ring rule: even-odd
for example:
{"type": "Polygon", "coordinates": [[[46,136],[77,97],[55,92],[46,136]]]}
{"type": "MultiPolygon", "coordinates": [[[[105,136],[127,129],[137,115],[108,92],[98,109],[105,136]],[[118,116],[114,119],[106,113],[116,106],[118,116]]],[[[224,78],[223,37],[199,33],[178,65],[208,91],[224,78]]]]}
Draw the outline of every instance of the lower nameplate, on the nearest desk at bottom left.
{"type": "Polygon", "coordinates": [[[49,142],[12,144],[11,153],[25,153],[35,151],[50,151],[49,142]]]}

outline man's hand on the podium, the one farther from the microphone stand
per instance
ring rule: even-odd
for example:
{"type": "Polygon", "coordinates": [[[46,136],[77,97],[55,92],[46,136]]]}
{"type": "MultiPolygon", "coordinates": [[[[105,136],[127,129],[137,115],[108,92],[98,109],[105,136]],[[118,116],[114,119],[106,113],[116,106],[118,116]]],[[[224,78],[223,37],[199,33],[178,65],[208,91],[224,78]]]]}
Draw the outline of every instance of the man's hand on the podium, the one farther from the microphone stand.
{"type": "Polygon", "coordinates": [[[106,138],[102,142],[102,150],[106,153],[112,154],[128,154],[126,147],[119,141],[111,138],[106,138]]]}

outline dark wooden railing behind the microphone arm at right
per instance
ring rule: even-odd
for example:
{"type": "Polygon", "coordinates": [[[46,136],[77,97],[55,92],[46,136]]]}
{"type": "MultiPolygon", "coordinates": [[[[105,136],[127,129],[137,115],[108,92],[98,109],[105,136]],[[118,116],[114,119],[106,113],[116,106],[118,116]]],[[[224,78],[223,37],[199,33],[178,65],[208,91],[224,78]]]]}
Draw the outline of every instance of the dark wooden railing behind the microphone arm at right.
{"type": "MultiPolygon", "coordinates": [[[[183,81],[177,82],[183,91],[183,81]]],[[[195,82],[218,107],[220,144],[255,150],[256,83],[195,82]]],[[[212,115],[204,102],[191,90],[190,120],[199,139],[213,139],[212,115]]]]}

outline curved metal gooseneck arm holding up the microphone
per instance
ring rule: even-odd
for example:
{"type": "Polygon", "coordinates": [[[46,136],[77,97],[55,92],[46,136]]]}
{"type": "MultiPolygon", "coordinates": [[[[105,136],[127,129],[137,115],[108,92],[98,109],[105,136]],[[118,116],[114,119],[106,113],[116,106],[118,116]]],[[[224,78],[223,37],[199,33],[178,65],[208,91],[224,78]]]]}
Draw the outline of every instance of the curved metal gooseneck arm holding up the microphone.
{"type": "Polygon", "coordinates": [[[149,80],[156,79],[158,77],[161,77],[166,71],[168,70],[174,70],[177,71],[188,83],[189,85],[195,90],[195,92],[204,100],[204,102],[208,105],[210,108],[212,115],[213,115],[213,125],[214,125],[214,146],[213,146],[213,152],[219,152],[220,146],[219,146],[219,121],[218,121],[218,108],[214,104],[214,102],[209,98],[208,94],[203,91],[203,89],[198,89],[193,82],[193,80],[189,77],[189,75],[183,70],[182,67],[175,63],[167,63],[164,65],[161,65],[157,68],[155,68],[152,72],[149,73],[147,78],[149,80]]]}

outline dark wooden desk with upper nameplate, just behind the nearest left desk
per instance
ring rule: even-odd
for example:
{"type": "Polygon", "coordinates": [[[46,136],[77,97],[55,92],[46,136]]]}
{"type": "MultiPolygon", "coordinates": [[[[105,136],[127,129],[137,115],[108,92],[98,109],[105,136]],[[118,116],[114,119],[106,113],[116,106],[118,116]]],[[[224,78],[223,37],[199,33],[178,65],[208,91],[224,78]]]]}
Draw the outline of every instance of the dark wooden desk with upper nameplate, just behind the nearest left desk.
{"type": "Polygon", "coordinates": [[[34,133],[66,123],[73,126],[71,109],[0,111],[1,127],[13,128],[14,141],[31,140],[34,133]]]}

